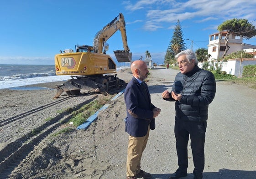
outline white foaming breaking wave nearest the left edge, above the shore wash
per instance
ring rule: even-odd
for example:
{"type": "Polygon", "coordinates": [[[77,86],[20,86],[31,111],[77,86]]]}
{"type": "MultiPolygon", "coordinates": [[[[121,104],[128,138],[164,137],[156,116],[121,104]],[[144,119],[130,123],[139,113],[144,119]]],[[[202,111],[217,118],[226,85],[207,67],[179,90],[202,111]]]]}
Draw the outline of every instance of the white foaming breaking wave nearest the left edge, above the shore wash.
{"type": "Polygon", "coordinates": [[[3,76],[0,77],[0,81],[11,81],[11,80],[19,80],[26,78],[34,78],[34,77],[51,77],[56,76],[55,72],[47,72],[47,73],[29,73],[29,74],[17,74],[12,76],[3,76]]]}

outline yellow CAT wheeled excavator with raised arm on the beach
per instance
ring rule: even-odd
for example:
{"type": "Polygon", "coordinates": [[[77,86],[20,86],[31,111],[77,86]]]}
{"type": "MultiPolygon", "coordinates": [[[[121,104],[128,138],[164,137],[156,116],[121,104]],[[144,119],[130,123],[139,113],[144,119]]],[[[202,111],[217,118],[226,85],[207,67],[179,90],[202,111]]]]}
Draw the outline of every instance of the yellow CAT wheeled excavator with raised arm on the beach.
{"type": "Polygon", "coordinates": [[[122,85],[116,74],[116,64],[106,54],[109,50],[106,42],[116,31],[120,30],[124,50],[114,51],[118,62],[131,62],[131,52],[127,45],[124,15],[120,13],[114,20],[98,31],[94,36],[93,46],[76,45],[75,51],[66,49],[55,55],[56,75],[71,75],[70,80],[57,86],[54,98],[62,92],[77,95],[80,90],[101,92],[107,95],[111,87],[119,89],[122,85]]]}

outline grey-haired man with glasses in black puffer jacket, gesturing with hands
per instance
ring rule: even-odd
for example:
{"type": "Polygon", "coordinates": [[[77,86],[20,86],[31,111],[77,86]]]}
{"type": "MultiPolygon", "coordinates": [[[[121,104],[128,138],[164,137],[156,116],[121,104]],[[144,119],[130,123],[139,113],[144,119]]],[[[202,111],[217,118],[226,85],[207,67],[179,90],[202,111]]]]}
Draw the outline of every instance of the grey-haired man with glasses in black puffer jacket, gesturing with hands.
{"type": "Polygon", "coordinates": [[[178,169],[169,179],[187,176],[189,136],[193,154],[194,179],[202,179],[208,106],[214,99],[216,82],[212,72],[199,68],[197,57],[192,50],[181,51],[175,58],[177,58],[180,72],[175,77],[172,92],[165,90],[162,93],[164,100],[176,101],[174,133],[178,169]]]}

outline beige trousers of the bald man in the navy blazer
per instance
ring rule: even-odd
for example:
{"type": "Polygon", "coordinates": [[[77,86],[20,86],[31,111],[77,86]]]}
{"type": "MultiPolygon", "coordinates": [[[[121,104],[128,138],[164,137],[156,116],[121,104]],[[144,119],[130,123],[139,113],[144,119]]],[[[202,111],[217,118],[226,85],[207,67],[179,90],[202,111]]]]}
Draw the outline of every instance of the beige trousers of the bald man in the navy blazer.
{"type": "Polygon", "coordinates": [[[147,133],[143,137],[133,137],[129,135],[127,162],[126,162],[126,176],[132,177],[140,172],[141,157],[149,136],[148,127],[147,133]]]}

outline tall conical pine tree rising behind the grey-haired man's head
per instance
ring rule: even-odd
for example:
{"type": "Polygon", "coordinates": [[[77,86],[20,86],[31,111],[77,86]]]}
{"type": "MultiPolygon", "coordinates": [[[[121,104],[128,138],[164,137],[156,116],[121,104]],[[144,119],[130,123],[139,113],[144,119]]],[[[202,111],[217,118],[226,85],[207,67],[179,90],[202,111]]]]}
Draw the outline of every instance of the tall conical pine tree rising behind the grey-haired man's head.
{"type": "Polygon", "coordinates": [[[164,56],[164,63],[174,63],[176,60],[174,59],[175,55],[179,52],[186,49],[184,40],[183,40],[183,31],[182,27],[180,26],[179,20],[174,28],[172,40],[167,48],[166,54],[164,56]]]}

